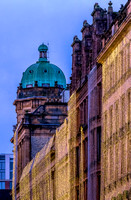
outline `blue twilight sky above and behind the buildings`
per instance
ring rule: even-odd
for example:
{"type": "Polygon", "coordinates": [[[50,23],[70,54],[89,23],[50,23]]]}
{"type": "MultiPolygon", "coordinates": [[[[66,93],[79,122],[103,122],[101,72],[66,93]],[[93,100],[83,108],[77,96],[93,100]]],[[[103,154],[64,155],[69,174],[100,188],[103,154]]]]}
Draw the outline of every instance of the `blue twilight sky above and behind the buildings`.
{"type": "MultiPolygon", "coordinates": [[[[81,39],[83,21],[92,23],[91,12],[98,2],[109,0],[4,0],[0,1],[0,153],[11,153],[12,126],[16,124],[17,86],[22,73],[38,59],[38,46],[49,43],[49,60],[71,75],[71,43],[81,39]]],[[[125,0],[112,0],[118,11],[125,0]]]]}

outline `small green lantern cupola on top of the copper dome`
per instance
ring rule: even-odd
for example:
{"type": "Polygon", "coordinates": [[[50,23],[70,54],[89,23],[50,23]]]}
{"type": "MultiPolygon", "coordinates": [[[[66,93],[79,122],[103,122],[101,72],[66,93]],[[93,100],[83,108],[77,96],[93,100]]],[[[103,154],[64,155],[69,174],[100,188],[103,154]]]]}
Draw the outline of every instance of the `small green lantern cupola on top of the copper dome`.
{"type": "Polygon", "coordinates": [[[38,51],[40,52],[40,54],[39,54],[39,61],[47,61],[48,47],[44,43],[42,43],[38,47],[38,51]]]}

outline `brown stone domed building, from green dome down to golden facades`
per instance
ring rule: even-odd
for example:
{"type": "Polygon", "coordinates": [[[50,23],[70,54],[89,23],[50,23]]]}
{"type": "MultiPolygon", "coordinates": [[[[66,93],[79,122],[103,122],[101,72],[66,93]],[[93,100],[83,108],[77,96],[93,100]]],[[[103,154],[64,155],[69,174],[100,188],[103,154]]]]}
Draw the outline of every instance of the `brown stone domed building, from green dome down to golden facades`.
{"type": "Polygon", "coordinates": [[[38,48],[39,60],[23,73],[14,101],[17,125],[14,130],[14,188],[19,196],[19,180],[24,167],[55,134],[67,116],[62,101],[66,79],[62,70],[47,59],[48,47],[38,48]]]}

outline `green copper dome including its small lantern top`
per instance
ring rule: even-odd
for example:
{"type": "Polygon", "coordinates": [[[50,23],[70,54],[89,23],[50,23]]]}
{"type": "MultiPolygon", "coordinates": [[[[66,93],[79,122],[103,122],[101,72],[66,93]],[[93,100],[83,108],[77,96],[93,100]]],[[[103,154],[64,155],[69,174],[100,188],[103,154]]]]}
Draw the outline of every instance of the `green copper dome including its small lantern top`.
{"type": "Polygon", "coordinates": [[[55,87],[57,82],[59,87],[66,88],[66,79],[62,70],[47,61],[48,47],[42,44],[38,50],[40,52],[39,61],[28,67],[23,73],[22,87],[34,87],[37,81],[38,87],[55,87]]]}

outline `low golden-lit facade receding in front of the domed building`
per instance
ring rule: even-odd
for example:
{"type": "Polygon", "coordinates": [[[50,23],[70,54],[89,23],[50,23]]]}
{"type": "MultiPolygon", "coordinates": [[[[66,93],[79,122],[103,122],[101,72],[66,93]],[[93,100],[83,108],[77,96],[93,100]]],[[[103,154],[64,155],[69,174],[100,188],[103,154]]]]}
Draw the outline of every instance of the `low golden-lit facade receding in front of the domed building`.
{"type": "Polygon", "coordinates": [[[65,120],[48,144],[25,167],[20,179],[20,199],[70,199],[69,160],[65,120]]]}

